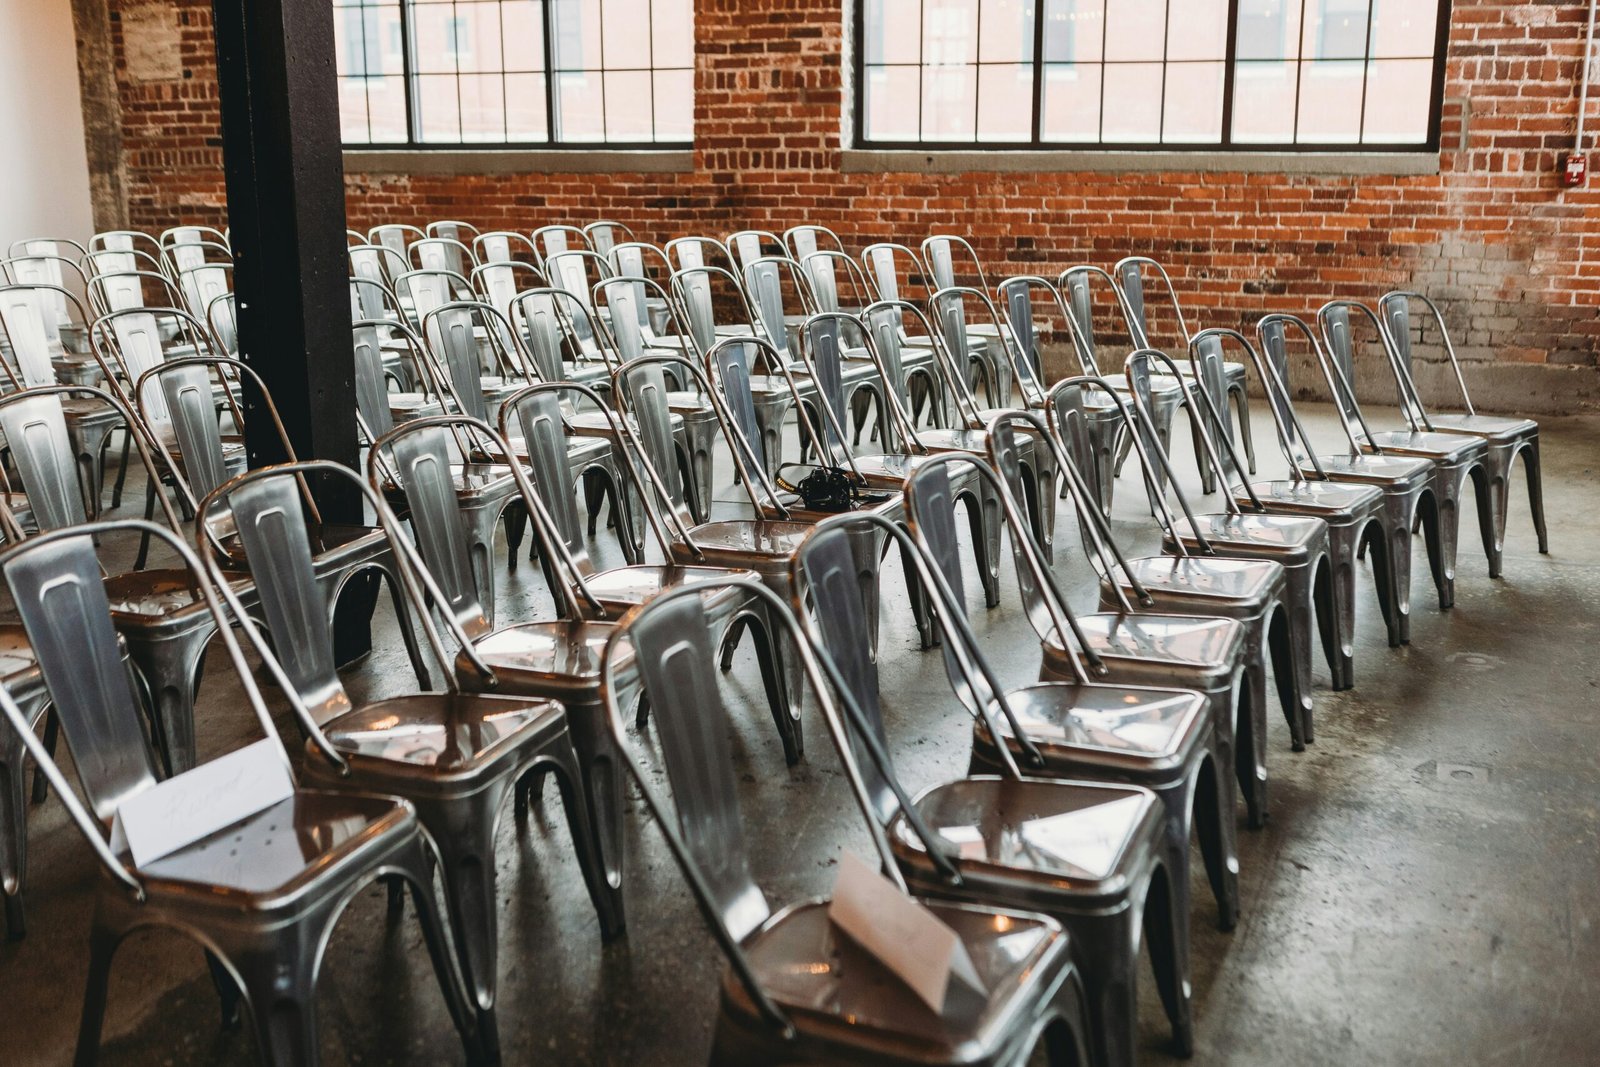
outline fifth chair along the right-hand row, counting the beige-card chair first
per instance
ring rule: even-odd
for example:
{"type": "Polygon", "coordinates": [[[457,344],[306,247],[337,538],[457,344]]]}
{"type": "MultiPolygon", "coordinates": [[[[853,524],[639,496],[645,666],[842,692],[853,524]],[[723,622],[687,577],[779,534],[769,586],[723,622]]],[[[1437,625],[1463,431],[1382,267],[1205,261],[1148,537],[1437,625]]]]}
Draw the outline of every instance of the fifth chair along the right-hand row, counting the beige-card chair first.
{"type": "MultiPolygon", "coordinates": [[[[1176,520],[1166,504],[1166,496],[1155,488],[1154,472],[1165,469],[1171,482],[1171,462],[1166,453],[1150,450],[1149,416],[1136,421],[1128,403],[1118,397],[1110,382],[1099,378],[1067,378],[1050,390],[1050,426],[1070,424],[1082,405],[1085,389],[1099,390],[1115,405],[1118,418],[1139,459],[1146,491],[1155,509],[1155,518],[1163,531],[1163,550],[1171,555],[1126,560],[1118,553],[1117,568],[1101,571],[1101,609],[1115,611],[1130,601],[1142,609],[1162,614],[1202,616],[1206,619],[1234,619],[1245,627],[1245,685],[1250,688],[1250,715],[1235,720],[1235,755],[1240,795],[1251,827],[1259,827],[1267,817],[1267,665],[1277,683],[1278,699],[1291,729],[1301,718],[1294,691],[1293,643],[1290,640],[1288,606],[1285,601],[1286,576],[1283,565],[1267,560],[1229,558],[1216,552],[1210,541],[1186,547],[1186,537],[1171,537],[1176,520]],[[1070,416],[1070,418],[1069,418],[1070,416]]],[[[1070,450],[1062,448],[1062,458],[1070,459],[1070,450]]],[[[1082,472],[1078,472],[1082,474],[1082,472]]],[[[1189,502],[1179,493],[1178,504],[1187,517],[1189,502]]],[[[1102,517],[1104,518],[1104,517],[1102,517]]],[[[1101,533],[1109,541],[1109,526],[1101,533]]],[[[1093,558],[1093,557],[1091,557],[1093,558]]]]}

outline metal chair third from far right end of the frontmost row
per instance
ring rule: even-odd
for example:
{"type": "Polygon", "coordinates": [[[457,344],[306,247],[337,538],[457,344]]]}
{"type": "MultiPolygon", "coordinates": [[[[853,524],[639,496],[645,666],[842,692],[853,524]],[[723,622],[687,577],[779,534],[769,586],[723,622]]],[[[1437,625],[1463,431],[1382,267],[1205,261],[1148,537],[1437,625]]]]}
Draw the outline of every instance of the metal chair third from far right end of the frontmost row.
{"type": "MultiPolygon", "coordinates": [[[[1322,350],[1322,341],[1304,320],[1286,314],[1264,315],[1256,323],[1256,338],[1261,341],[1261,354],[1274,379],[1274,389],[1267,392],[1267,397],[1274,402],[1275,411],[1282,408],[1283,422],[1294,429],[1294,434],[1280,438],[1280,442],[1288,448],[1290,462],[1307,478],[1326,480],[1341,486],[1368,485],[1382,493],[1379,518],[1384,528],[1386,552],[1382,558],[1374,557],[1373,566],[1382,565],[1392,577],[1392,585],[1389,597],[1379,597],[1378,603],[1384,609],[1384,622],[1389,627],[1389,646],[1406,645],[1411,641],[1411,531],[1418,522],[1422,523],[1429,557],[1437,560],[1440,552],[1434,464],[1427,459],[1365,451],[1355,437],[1357,424],[1338,403],[1334,414],[1339,418],[1339,427],[1344,430],[1350,450],[1342,454],[1318,454],[1304,427],[1294,419],[1294,405],[1290,400],[1293,395],[1288,360],[1290,328],[1310,344],[1317,366],[1330,386],[1349,384],[1344,371],[1328,362],[1322,350]]],[[[1438,563],[1435,561],[1434,566],[1437,568],[1438,563]]]]}

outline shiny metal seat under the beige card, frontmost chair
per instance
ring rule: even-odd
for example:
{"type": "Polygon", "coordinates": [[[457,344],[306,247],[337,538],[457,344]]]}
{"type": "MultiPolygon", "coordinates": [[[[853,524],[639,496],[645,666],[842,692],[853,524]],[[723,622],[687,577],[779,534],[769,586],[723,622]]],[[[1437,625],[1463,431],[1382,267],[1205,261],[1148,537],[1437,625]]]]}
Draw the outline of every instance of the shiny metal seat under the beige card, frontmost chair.
{"type": "MultiPolygon", "coordinates": [[[[746,939],[744,952],[757,982],[790,1014],[802,1041],[875,1048],[880,1049],[875,1062],[989,1062],[971,1061],[974,1046],[987,1048],[1005,1032],[1000,1019],[1043,1011],[1061,969],[1070,966],[1067,934],[1043,915],[923,904],[962,939],[984,989],[990,990],[986,997],[952,998],[954,1009],[944,1014],[931,1011],[875,957],[838,933],[826,901],[778,912],[746,939]],[[898,1054],[883,1056],[883,1048],[898,1054]]],[[[768,1030],[731,971],[723,979],[723,1009],[768,1030]]]]}

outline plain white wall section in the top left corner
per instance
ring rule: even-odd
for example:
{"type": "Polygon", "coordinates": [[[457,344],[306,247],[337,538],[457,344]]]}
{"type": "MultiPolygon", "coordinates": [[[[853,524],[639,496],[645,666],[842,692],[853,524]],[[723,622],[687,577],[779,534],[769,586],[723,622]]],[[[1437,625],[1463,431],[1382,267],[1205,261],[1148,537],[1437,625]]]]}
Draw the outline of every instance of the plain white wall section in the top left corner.
{"type": "Polygon", "coordinates": [[[0,254],[93,232],[69,0],[0,0],[0,254]]]}

